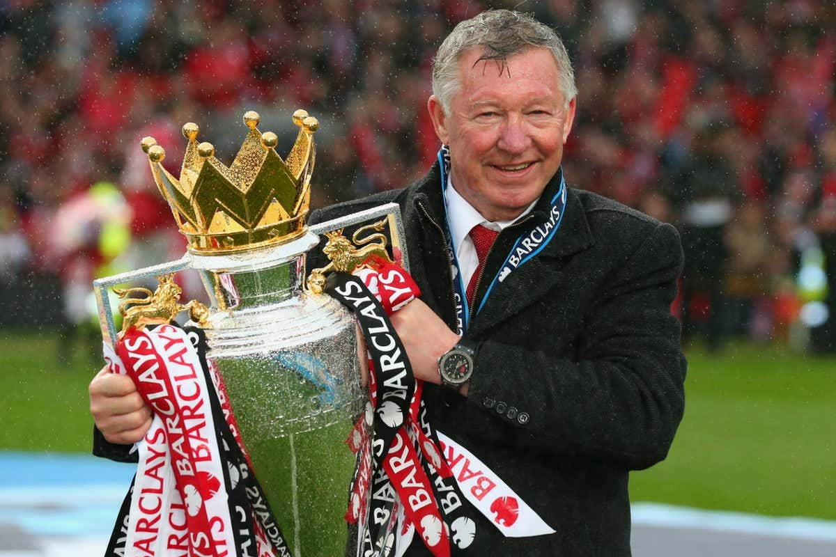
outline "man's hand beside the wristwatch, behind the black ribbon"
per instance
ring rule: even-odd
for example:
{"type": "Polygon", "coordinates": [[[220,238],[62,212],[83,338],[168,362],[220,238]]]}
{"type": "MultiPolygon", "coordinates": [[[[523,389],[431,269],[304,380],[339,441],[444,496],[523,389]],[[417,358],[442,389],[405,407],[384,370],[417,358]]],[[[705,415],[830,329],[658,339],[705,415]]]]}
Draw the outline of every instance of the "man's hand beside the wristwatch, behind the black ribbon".
{"type": "Polygon", "coordinates": [[[418,299],[410,301],[389,318],[404,343],[415,378],[441,384],[438,358],[456,346],[459,336],[418,299]]]}

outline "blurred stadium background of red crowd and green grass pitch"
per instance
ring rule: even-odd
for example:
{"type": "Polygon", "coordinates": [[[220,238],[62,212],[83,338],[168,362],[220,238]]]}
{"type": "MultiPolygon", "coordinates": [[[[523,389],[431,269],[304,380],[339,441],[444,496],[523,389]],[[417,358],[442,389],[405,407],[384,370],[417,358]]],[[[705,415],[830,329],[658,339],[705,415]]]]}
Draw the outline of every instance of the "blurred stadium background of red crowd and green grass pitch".
{"type": "Polygon", "coordinates": [[[181,124],[228,162],[245,110],[286,152],[305,108],[321,123],[315,205],[399,187],[438,148],[431,57],[487,7],[532,12],[567,44],[570,183],[683,236],[686,418],[633,499],[836,519],[824,0],[0,3],[0,455],[89,451],[90,281],[181,256],[141,137],[177,175],[181,124]]]}

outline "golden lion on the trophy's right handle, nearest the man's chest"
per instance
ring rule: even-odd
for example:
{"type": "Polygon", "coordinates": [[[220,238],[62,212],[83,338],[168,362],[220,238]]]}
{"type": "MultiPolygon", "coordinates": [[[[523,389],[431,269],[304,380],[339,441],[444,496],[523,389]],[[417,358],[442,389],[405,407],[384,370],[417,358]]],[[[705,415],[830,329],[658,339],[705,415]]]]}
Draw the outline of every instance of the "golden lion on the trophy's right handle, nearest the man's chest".
{"type": "Polygon", "coordinates": [[[389,252],[386,251],[386,236],[380,233],[385,225],[386,220],[384,219],[371,225],[361,226],[351,236],[351,240],[343,235],[342,228],[333,232],[325,232],[328,242],[322,251],[325,256],[328,256],[330,263],[310,272],[308,291],[321,294],[325,285],[325,273],[331,271],[352,273],[364,264],[375,267],[375,260],[394,263],[389,256],[389,252]],[[368,230],[377,230],[377,233],[367,235],[364,238],[359,237],[368,230]],[[375,243],[370,243],[373,241],[375,243]],[[364,244],[367,244],[367,246],[364,246],[364,244]]]}

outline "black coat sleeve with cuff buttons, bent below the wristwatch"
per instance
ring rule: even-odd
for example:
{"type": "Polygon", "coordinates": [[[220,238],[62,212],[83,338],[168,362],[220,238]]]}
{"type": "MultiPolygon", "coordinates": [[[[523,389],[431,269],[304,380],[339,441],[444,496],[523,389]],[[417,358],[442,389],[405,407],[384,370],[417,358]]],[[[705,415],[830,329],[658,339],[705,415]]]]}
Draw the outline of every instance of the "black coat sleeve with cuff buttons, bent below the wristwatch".
{"type": "Polygon", "coordinates": [[[516,428],[523,450],[626,469],[664,459],[685,409],[681,327],[670,314],[681,267],[679,235],[656,225],[596,293],[577,357],[482,342],[470,402],[530,409],[525,423],[491,413],[516,428]]]}

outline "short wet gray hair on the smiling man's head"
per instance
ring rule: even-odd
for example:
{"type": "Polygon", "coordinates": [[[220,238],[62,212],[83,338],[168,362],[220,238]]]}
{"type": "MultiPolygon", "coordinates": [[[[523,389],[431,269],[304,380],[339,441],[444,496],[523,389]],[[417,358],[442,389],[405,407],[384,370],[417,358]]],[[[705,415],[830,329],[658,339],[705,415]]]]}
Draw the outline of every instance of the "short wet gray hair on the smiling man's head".
{"type": "Polygon", "coordinates": [[[507,61],[509,56],[533,47],[548,48],[558,64],[558,86],[569,102],[578,94],[572,63],[566,47],[553,28],[538,22],[528,13],[511,10],[488,10],[456,25],[432,61],[432,94],[450,114],[450,102],[459,84],[458,62],[468,48],[481,47],[480,60],[507,61]]]}

